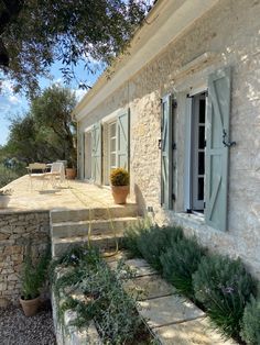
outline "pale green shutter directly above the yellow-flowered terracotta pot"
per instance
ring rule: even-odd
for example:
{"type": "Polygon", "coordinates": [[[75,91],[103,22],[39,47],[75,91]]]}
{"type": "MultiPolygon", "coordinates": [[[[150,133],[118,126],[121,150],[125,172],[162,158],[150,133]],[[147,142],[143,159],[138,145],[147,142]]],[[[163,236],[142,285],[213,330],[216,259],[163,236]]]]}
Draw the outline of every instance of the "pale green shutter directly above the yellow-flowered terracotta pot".
{"type": "Polygon", "coordinates": [[[117,166],[129,169],[129,111],[117,119],[117,166]]]}

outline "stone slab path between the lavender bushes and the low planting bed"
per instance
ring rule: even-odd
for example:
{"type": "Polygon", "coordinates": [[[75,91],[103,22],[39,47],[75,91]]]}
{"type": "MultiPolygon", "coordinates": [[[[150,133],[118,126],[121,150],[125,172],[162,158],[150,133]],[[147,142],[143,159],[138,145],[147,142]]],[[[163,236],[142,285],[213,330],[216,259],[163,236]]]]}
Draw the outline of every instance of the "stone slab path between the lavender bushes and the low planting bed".
{"type": "MultiPolygon", "coordinates": [[[[117,261],[124,258],[123,253],[107,258],[115,269],[117,261]]],[[[139,313],[150,330],[164,345],[235,345],[224,341],[209,326],[208,318],[195,304],[176,294],[174,288],[158,276],[143,259],[126,259],[136,271],[129,281],[122,279],[126,291],[139,291],[139,313]]],[[[122,277],[123,278],[123,277],[122,277]]]]}

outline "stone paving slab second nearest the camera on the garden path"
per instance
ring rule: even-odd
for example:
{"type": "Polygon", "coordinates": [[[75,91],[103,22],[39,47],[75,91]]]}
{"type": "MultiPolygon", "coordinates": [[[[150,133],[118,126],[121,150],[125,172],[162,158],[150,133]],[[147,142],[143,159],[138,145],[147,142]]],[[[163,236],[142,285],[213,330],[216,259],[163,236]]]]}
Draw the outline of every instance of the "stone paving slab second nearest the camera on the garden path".
{"type": "Polygon", "coordinates": [[[139,312],[151,329],[205,316],[201,309],[176,294],[140,301],[139,304],[139,312]]]}

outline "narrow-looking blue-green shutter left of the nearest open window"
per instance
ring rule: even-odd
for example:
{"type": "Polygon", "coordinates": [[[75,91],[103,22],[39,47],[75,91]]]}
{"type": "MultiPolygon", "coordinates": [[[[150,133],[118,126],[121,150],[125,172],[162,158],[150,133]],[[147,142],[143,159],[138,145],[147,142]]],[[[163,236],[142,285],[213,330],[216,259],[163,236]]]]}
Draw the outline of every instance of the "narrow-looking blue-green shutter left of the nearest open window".
{"type": "Polygon", "coordinates": [[[162,99],[162,123],[161,123],[161,204],[165,209],[172,209],[173,181],[172,181],[172,97],[162,99]]]}

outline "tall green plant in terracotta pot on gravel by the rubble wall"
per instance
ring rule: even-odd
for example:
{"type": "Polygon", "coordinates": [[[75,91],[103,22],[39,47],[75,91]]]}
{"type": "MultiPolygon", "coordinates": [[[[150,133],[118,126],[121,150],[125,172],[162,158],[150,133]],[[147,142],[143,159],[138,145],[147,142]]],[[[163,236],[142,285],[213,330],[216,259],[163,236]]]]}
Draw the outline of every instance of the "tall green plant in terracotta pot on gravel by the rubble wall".
{"type": "Polygon", "coordinates": [[[25,316],[33,316],[37,312],[41,304],[41,289],[46,279],[48,263],[50,249],[47,248],[41,258],[35,261],[32,259],[32,247],[31,243],[29,243],[21,272],[22,291],[20,303],[25,316]]]}

